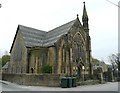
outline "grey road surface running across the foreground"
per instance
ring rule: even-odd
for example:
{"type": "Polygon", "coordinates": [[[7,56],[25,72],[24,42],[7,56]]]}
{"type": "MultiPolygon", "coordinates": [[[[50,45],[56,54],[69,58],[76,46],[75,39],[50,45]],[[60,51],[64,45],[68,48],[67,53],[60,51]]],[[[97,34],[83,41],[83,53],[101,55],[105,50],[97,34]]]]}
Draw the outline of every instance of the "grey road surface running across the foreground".
{"type": "Polygon", "coordinates": [[[0,80],[1,91],[118,91],[118,82],[106,84],[82,85],[72,88],[25,86],[0,80]]]}

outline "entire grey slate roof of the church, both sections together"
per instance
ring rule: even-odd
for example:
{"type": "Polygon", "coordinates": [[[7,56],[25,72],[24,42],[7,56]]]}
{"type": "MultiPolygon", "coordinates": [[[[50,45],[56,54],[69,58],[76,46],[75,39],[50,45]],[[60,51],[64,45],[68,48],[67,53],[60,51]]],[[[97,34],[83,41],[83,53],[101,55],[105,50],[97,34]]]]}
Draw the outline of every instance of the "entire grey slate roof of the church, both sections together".
{"type": "MultiPolygon", "coordinates": [[[[47,47],[47,46],[54,45],[54,43],[56,43],[62,35],[67,34],[70,28],[76,22],[76,20],[77,19],[70,21],[48,32],[37,30],[31,27],[26,27],[23,25],[18,25],[16,35],[18,31],[21,32],[21,35],[25,41],[26,47],[34,47],[34,46],[46,46],[47,47]]],[[[12,47],[14,45],[16,35],[14,37],[12,47]]],[[[12,50],[12,47],[11,47],[11,50],[12,50]]]]}

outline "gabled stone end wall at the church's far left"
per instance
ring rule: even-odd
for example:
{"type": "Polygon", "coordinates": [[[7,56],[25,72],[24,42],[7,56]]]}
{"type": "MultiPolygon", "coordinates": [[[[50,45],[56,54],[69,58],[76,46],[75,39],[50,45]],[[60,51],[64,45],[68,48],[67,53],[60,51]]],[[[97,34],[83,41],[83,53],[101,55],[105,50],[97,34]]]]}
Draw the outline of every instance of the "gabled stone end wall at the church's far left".
{"type": "Polygon", "coordinates": [[[11,58],[9,64],[9,73],[26,73],[27,66],[27,48],[21,33],[18,32],[16,41],[11,50],[11,58]]]}

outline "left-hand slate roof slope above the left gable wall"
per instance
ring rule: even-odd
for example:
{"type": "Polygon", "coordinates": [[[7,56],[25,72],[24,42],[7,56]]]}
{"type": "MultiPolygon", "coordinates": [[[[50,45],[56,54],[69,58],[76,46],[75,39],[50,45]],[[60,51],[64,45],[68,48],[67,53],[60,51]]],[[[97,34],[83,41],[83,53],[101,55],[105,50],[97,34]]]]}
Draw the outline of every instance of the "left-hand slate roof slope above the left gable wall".
{"type": "Polygon", "coordinates": [[[22,25],[19,25],[19,31],[23,36],[26,47],[43,45],[44,38],[46,36],[45,31],[37,30],[34,28],[22,26],[22,25]]]}

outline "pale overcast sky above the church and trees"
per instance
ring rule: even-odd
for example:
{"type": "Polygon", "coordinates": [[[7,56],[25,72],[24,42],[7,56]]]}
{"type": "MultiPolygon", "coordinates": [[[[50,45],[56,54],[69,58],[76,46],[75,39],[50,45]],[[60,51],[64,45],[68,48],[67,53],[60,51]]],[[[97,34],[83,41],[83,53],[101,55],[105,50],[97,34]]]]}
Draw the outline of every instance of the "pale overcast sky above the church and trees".
{"type": "MultiPolygon", "coordinates": [[[[11,48],[18,24],[49,31],[76,19],[83,2],[89,17],[92,56],[107,61],[118,51],[118,7],[106,0],[0,0],[0,56],[11,48]]],[[[118,4],[119,0],[110,0],[118,4]]]]}

